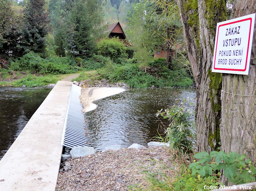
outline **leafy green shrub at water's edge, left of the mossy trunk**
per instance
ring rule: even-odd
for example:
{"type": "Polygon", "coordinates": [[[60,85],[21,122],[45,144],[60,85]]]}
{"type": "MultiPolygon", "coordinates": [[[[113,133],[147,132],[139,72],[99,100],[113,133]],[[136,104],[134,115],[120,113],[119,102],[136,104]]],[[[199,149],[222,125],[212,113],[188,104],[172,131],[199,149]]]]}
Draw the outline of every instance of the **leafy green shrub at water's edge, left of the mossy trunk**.
{"type": "Polygon", "coordinates": [[[189,112],[185,111],[185,107],[174,106],[164,111],[161,109],[156,115],[157,117],[160,115],[170,121],[169,126],[165,129],[166,137],[162,140],[170,143],[171,148],[179,151],[179,153],[192,153],[192,139],[195,136],[190,130],[192,123],[189,121],[189,112]]]}

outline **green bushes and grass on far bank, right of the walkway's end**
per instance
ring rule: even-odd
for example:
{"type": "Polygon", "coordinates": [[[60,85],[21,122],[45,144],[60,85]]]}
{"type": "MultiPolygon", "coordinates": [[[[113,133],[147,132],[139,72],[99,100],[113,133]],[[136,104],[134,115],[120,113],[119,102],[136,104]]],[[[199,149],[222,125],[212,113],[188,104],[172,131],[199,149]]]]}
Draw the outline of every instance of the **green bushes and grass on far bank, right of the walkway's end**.
{"type": "Polygon", "coordinates": [[[137,63],[109,63],[104,68],[97,69],[95,74],[82,72],[75,81],[106,79],[110,83],[126,83],[131,88],[146,87],[183,87],[191,86],[193,81],[184,68],[172,71],[166,66],[157,68],[154,73],[145,72],[137,63]]]}

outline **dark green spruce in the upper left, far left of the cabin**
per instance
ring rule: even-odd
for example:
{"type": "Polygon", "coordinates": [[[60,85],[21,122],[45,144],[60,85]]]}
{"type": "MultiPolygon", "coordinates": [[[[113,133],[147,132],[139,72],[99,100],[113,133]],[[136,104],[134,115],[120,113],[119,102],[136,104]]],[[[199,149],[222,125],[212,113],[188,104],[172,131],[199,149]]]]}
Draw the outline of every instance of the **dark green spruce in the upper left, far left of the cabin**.
{"type": "Polygon", "coordinates": [[[44,6],[44,0],[29,0],[26,4],[22,30],[23,54],[29,51],[44,52],[45,36],[49,31],[48,14],[44,6]]]}

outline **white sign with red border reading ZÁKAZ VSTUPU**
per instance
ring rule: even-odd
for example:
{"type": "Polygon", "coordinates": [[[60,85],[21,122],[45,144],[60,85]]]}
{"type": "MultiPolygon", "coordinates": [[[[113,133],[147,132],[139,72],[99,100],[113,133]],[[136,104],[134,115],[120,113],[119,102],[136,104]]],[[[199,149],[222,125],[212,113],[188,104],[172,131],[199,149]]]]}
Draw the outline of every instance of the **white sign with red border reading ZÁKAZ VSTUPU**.
{"type": "Polygon", "coordinates": [[[254,21],[255,13],[217,23],[212,72],[249,74],[254,21]]]}

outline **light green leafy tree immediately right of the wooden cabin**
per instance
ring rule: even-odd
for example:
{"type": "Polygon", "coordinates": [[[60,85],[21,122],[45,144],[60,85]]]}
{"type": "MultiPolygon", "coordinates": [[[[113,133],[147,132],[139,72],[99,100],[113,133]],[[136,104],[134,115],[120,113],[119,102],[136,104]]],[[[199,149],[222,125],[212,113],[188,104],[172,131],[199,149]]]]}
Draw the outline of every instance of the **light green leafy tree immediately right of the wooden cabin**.
{"type": "Polygon", "coordinates": [[[155,11],[149,2],[140,1],[133,5],[128,17],[128,38],[134,44],[134,57],[140,60],[142,65],[147,65],[153,59],[154,50],[163,43],[161,34],[157,30],[157,22],[151,20],[151,14],[155,11]]]}

